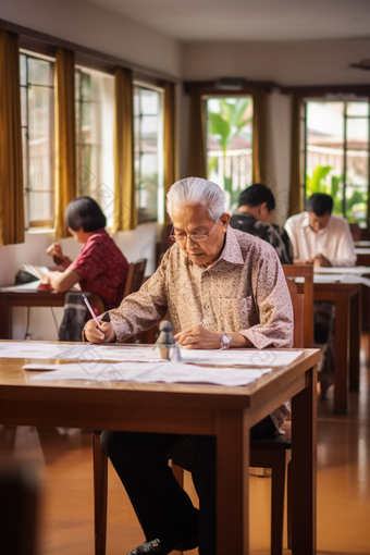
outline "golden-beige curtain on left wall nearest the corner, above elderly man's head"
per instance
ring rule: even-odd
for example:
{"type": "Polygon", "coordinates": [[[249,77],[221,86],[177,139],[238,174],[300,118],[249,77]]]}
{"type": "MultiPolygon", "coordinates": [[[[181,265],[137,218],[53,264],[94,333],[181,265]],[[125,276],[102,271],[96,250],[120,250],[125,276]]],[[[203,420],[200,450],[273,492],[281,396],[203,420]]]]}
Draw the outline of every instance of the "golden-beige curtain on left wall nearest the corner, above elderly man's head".
{"type": "MultiPolygon", "coordinates": [[[[169,82],[164,84],[163,123],[164,123],[163,128],[164,192],[166,194],[171,185],[173,185],[178,178],[175,85],[169,82]]],[[[164,211],[164,213],[165,223],[169,223],[169,217],[166,211],[164,211]]]]}

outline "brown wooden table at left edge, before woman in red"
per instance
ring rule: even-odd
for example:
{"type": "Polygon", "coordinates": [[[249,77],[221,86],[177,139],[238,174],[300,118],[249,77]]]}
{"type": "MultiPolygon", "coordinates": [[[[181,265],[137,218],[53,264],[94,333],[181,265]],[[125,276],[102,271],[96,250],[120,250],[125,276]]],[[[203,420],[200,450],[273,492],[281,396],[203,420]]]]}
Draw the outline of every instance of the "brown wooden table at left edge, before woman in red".
{"type": "Polygon", "coordinates": [[[0,292],[0,338],[12,338],[13,307],[63,307],[64,293],[50,291],[0,292]]]}

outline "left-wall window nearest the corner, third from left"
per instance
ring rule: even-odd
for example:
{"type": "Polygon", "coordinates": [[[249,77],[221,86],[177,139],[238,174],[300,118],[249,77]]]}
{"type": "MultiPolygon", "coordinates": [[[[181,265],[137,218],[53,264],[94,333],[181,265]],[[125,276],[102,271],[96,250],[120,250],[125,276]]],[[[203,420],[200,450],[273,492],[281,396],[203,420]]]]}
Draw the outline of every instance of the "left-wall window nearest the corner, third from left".
{"type": "Polygon", "coordinates": [[[163,92],[134,86],[135,183],[138,223],[163,222],[163,92]]]}

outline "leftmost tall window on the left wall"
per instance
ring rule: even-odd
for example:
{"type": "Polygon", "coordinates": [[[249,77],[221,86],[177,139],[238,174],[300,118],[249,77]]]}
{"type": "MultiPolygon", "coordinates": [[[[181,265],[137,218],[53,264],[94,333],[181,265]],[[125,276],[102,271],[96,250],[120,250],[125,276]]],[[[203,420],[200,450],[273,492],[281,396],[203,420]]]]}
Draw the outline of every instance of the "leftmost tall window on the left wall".
{"type": "Polygon", "coordinates": [[[54,63],[52,59],[22,51],[20,66],[26,229],[52,227],[54,63]]]}

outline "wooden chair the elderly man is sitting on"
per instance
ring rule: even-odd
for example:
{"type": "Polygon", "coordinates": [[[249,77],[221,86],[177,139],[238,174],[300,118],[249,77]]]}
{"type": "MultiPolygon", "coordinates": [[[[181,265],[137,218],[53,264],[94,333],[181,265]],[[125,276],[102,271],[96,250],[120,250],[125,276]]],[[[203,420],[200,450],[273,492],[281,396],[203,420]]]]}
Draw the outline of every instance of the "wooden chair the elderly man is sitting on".
{"type": "MultiPolygon", "coordinates": [[[[286,280],[294,310],[294,346],[304,345],[304,295],[297,293],[297,286],[286,280]]],[[[288,427],[286,427],[288,428],[288,427]]],[[[286,435],[271,440],[251,442],[250,466],[272,469],[271,489],[271,554],[281,555],[283,544],[283,515],[286,452],[292,448],[289,430],[286,435]],[[255,445],[257,443],[257,445],[255,445]],[[279,551],[280,550],[280,551],[279,551]]],[[[106,555],[107,539],[107,492],[108,458],[100,447],[100,434],[92,434],[94,454],[94,505],[95,505],[95,554],[106,555]]],[[[184,470],[172,465],[172,471],[181,486],[184,485],[184,470]]]]}

